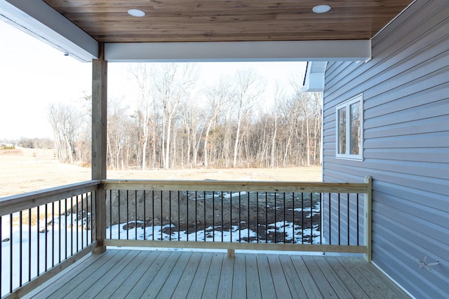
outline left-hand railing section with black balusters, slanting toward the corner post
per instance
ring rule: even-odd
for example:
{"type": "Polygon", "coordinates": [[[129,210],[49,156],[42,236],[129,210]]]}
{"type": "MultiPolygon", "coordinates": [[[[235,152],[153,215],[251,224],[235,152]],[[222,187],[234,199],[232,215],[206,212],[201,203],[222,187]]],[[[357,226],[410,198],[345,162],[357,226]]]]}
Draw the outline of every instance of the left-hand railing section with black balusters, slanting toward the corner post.
{"type": "Polygon", "coordinates": [[[20,297],[93,251],[100,183],[0,199],[1,297],[20,297]]]}

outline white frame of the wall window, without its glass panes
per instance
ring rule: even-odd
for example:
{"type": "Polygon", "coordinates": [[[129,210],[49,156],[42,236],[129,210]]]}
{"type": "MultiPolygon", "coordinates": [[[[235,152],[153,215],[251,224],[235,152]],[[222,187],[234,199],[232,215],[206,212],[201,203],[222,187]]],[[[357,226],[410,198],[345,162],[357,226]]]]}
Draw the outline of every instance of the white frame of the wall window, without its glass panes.
{"type": "Polygon", "coordinates": [[[338,104],[335,107],[335,157],[349,160],[363,160],[363,94],[356,95],[347,101],[338,104]],[[351,105],[360,103],[360,150],[358,155],[351,154],[351,105]],[[339,153],[340,148],[340,109],[346,109],[346,151],[347,153],[339,153]]]}

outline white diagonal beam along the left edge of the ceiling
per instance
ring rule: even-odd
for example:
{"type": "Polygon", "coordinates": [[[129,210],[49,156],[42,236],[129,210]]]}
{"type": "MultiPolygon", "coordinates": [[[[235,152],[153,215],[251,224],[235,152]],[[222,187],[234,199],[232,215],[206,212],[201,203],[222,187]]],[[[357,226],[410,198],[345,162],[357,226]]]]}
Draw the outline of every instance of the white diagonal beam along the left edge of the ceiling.
{"type": "Polygon", "coordinates": [[[0,0],[0,18],[65,55],[98,58],[98,42],[41,0],[0,0]]]}

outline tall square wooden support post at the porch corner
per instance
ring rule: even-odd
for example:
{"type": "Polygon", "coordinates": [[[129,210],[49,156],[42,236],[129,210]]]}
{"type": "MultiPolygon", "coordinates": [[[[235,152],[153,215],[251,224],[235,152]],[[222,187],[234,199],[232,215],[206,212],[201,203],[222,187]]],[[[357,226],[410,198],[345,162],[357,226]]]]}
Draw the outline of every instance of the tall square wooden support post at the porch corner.
{"type": "MultiPolygon", "coordinates": [[[[92,179],[106,179],[106,142],[107,142],[107,62],[105,61],[105,45],[99,45],[98,60],[92,62],[92,179]]],[[[95,237],[99,246],[93,253],[103,253],[106,246],[106,193],[100,187],[97,190],[95,204],[95,237]]]]}

